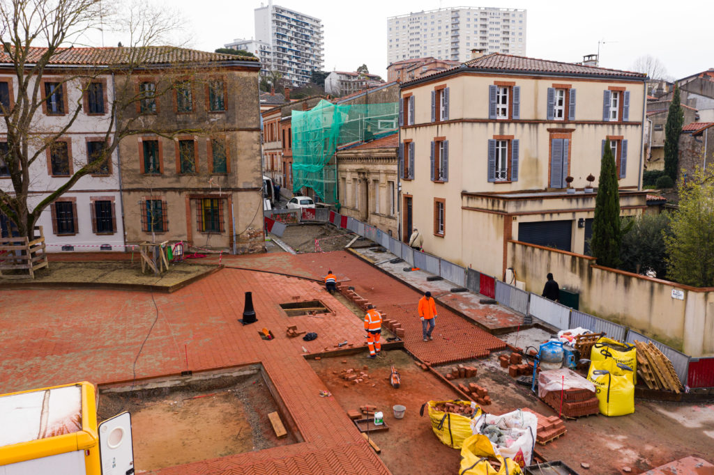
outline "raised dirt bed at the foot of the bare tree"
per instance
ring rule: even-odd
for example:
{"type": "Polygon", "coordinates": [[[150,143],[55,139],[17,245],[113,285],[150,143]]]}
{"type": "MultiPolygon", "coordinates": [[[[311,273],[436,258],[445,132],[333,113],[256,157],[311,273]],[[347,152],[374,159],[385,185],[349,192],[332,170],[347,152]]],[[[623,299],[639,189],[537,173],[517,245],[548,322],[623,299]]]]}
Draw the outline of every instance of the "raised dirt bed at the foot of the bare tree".
{"type": "Polygon", "coordinates": [[[147,270],[141,273],[139,256],[134,256],[134,262],[108,261],[108,262],[50,262],[49,268],[45,267],[35,272],[34,280],[30,279],[5,279],[0,275],[1,282],[106,282],[111,284],[138,284],[138,285],[165,285],[171,287],[191,277],[195,277],[213,265],[197,265],[190,262],[176,262],[169,265],[169,271],[154,275],[147,270]]]}

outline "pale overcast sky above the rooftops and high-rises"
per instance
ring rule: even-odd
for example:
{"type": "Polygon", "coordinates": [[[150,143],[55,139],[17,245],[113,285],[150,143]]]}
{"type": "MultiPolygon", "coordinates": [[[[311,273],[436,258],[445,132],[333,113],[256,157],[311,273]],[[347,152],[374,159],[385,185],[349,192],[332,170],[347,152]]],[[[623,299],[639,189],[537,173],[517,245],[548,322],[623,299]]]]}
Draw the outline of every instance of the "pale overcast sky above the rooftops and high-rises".
{"type": "MultiPolygon", "coordinates": [[[[712,0],[683,4],[663,0],[280,0],[274,4],[322,20],[325,71],[354,71],[366,63],[371,73],[386,77],[387,18],[440,6],[527,9],[526,56],[533,58],[580,61],[585,54],[597,53],[598,40],[603,40],[603,67],[630,69],[635,58],[645,54],[659,58],[675,78],[714,67],[712,0]]],[[[261,2],[172,0],[170,5],[184,16],[189,46],[213,51],[233,39],[255,35],[253,10],[261,2]]]]}

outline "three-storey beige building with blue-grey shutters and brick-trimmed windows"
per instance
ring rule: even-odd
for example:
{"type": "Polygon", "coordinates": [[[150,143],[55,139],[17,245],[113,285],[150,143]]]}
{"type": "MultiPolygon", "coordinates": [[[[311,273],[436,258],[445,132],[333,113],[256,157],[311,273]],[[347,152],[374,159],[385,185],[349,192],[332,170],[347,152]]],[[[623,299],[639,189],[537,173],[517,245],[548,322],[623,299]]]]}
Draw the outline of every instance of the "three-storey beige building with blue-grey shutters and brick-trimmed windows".
{"type": "Polygon", "coordinates": [[[502,278],[508,240],[588,252],[605,141],[641,213],[645,76],[493,53],[403,83],[401,238],[502,278]],[[572,177],[570,187],[566,178],[572,177]]]}

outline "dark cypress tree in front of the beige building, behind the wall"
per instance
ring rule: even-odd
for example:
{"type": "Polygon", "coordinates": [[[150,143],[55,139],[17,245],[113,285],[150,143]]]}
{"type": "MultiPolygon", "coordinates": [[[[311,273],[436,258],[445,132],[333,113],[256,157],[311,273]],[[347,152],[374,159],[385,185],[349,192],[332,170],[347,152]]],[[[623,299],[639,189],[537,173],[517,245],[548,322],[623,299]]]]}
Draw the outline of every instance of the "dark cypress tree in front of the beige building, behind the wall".
{"type": "Polygon", "coordinates": [[[610,141],[605,141],[605,154],[600,163],[598,195],[595,197],[595,220],[590,249],[599,265],[618,267],[620,264],[620,193],[618,191],[615,157],[610,141]]]}

